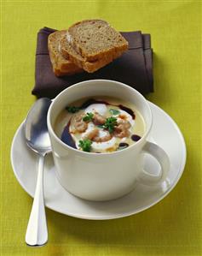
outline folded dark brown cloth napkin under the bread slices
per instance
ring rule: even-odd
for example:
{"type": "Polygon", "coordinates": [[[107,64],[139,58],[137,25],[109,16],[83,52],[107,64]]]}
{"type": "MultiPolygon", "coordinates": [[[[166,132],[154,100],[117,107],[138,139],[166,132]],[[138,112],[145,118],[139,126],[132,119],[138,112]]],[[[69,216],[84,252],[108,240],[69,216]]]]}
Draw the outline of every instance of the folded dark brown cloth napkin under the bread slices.
{"type": "Polygon", "coordinates": [[[83,80],[108,79],[123,82],[142,94],[153,92],[153,50],[150,34],[123,32],[129,42],[129,50],[121,57],[94,73],[83,72],[57,77],[49,60],[48,37],[55,29],[43,27],[38,32],[35,86],[32,94],[38,98],[54,98],[59,92],[83,80]]]}

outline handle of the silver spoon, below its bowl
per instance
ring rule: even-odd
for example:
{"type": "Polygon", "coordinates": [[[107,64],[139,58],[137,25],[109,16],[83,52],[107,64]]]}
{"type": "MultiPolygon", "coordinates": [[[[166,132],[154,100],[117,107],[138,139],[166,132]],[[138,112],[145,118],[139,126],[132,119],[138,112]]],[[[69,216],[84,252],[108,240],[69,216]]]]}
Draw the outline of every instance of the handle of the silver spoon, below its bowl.
{"type": "Polygon", "coordinates": [[[43,199],[43,164],[44,156],[39,156],[38,181],[35,189],[32,211],[26,229],[26,244],[42,246],[48,241],[48,229],[43,199]]]}

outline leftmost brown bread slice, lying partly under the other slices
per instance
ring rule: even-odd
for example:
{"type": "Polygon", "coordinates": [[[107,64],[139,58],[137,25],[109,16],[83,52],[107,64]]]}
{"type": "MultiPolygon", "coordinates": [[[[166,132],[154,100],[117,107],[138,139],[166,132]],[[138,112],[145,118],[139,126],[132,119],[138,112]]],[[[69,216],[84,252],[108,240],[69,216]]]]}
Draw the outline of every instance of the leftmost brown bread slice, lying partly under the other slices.
{"type": "Polygon", "coordinates": [[[49,57],[56,76],[76,74],[84,71],[82,68],[78,68],[68,58],[61,55],[61,39],[64,37],[66,38],[66,30],[49,34],[49,57]]]}

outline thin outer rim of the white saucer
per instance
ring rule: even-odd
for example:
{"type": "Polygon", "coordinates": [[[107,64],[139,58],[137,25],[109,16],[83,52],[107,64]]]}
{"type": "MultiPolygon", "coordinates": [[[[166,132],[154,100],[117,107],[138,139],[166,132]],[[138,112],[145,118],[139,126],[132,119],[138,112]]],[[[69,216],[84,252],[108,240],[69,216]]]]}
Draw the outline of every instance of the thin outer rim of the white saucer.
{"type": "MultiPolygon", "coordinates": [[[[52,211],[56,211],[56,212],[59,212],[61,214],[64,214],[66,216],[70,216],[70,217],[77,217],[77,218],[81,218],[81,219],[88,219],[88,220],[108,220],[108,219],[116,219],[116,218],[121,218],[121,217],[128,217],[128,216],[131,216],[131,215],[135,215],[137,213],[140,213],[141,211],[145,211],[147,209],[149,209],[150,207],[152,207],[153,205],[157,205],[162,199],[164,199],[174,188],[176,188],[176,184],[179,182],[179,180],[181,179],[182,177],[182,174],[184,172],[184,169],[185,169],[185,165],[186,165],[186,160],[187,160],[187,148],[186,148],[186,143],[185,143],[185,140],[184,140],[184,137],[182,135],[182,132],[180,130],[180,128],[178,127],[178,125],[176,124],[176,122],[164,111],[162,110],[157,104],[153,104],[151,101],[147,100],[148,104],[152,104],[154,106],[154,108],[158,108],[169,120],[170,122],[172,122],[173,126],[176,128],[176,131],[177,131],[177,134],[181,137],[181,140],[182,140],[182,160],[181,160],[181,165],[179,166],[178,170],[178,175],[176,176],[176,180],[175,182],[173,182],[172,186],[165,192],[165,193],[162,193],[161,196],[159,196],[159,199],[157,199],[156,201],[154,201],[153,203],[151,204],[148,204],[146,206],[143,206],[143,207],[140,207],[138,210],[136,211],[127,211],[125,213],[118,213],[118,214],[113,214],[112,216],[93,216],[93,215],[89,215],[86,216],[84,214],[78,214],[78,213],[71,213],[71,212],[68,212],[68,214],[65,212],[65,211],[60,211],[58,209],[55,210],[54,207],[50,206],[50,205],[46,205],[45,206],[47,208],[49,208],[50,210],[52,211]]],[[[24,186],[24,184],[20,181],[20,177],[17,176],[17,171],[15,170],[15,167],[14,167],[14,142],[17,138],[17,135],[19,134],[20,132],[20,129],[23,127],[23,124],[24,124],[25,120],[23,120],[23,122],[20,123],[20,126],[17,128],[17,130],[15,131],[14,133],[14,137],[13,137],[13,140],[12,140],[12,144],[11,144],[11,150],[10,150],[10,160],[11,160],[11,165],[12,165],[12,169],[13,169],[13,172],[14,172],[14,176],[16,178],[16,180],[20,183],[20,186],[26,191],[26,193],[28,193],[32,198],[34,196],[34,194],[30,193],[26,187],[24,186]]],[[[60,186],[61,186],[61,183],[60,183],[60,186]]],[[[66,191],[66,193],[68,193],[66,191]]],[[[76,197],[74,195],[72,195],[73,197],[76,197]]],[[[85,199],[81,199],[81,200],[84,200],[85,199]]],[[[118,199],[115,199],[115,200],[118,200],[118,199]]],[[[97,202],[96,202],[97,203],[97,202]]]]}

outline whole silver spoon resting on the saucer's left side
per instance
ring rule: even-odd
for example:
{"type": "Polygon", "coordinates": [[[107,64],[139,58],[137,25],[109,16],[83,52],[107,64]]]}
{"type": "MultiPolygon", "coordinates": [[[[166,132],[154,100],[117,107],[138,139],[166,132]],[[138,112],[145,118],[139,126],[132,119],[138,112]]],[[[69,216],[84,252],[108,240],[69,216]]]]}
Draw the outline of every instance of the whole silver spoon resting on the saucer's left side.
{"type": "Polygon", "coordinates": [[[47,128],[47,112],[50,104],[49,98],[38,99],[29,111],[25,122],[26,144],[39,156],[38,181],[26,229],[26,244],[29,246],[42,246],[48,241],[43,199],[43,164],[45,155],[51,152],[47,128]]]}

